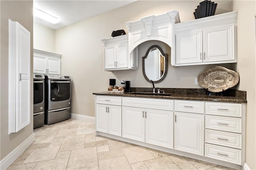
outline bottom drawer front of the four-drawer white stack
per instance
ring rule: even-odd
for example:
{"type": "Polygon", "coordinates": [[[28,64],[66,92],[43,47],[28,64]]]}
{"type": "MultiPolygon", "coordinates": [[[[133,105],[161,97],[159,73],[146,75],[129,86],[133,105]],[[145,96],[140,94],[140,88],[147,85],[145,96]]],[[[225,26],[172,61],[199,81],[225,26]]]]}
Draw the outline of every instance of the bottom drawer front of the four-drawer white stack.
{"type": "Polygon", "coordinates": [[[205,144],[205,156],[233,164],[242,164],[242,151],[238,149],[205,144]]]}

